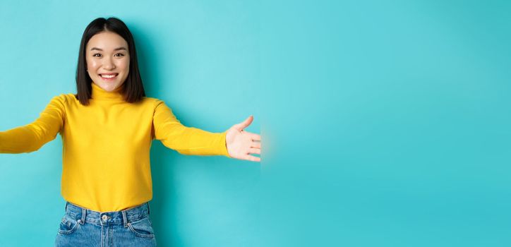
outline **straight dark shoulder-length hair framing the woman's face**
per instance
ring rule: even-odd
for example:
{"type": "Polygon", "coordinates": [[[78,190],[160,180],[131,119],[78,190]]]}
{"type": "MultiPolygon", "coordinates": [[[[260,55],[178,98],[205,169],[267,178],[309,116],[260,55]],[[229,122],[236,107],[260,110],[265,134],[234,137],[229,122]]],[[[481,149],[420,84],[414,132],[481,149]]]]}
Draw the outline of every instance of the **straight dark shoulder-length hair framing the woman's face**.
{"type": "Polygon", "coordinates": [[[115,32],[121,36],[128,43],[128,50],[130,54],[130,66],[128,77],[121,86],[121,93],[124,95],[126,102],[134,103],[139,102],[145,96],[144,85],[138,71],[137,53],[135,49],[135,41],[130,30],[122,20],[118,18],[97,18],[85,28],[83,32],[82,41],[80,42],[80,54],[78,54],[78,68],[76,68],[76,98],[80,104],[88,105],[89,99],[92,96],[92,79],[87,72],[87,61],[85,60],[85,49],[90,38],[100,32],[115,32]]]}

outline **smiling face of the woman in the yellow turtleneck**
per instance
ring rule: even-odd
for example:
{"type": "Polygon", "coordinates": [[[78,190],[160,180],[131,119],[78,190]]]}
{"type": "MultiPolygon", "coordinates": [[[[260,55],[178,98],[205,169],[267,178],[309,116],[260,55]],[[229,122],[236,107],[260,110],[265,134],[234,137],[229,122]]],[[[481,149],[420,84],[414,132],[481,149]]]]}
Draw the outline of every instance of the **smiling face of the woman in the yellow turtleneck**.
{"type": "Polygon", "coordinates": [[[85,49],[92,83],[108,92],[121,87],[129,73],[128,42],[115,32],[104,31],[92,36],[85,49]]]}

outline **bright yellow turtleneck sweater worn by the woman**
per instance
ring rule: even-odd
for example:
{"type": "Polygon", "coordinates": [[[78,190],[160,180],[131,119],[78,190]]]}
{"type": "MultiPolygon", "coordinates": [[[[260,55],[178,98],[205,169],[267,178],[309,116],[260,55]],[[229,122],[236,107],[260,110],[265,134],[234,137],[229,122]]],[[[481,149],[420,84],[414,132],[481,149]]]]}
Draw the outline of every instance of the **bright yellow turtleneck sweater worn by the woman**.
{"type": "Polygon", "coordinates": [[[183,126],[161,100],[124,102],[116,90],[92,83],[83,106],[73,94],[54,97],[39,119],[0,132],[0,152],[38,150],[60,133],[61,193],[65,200],[99,212],[124,210],[152,199],[149,150],[153,139],[185,155],[225,155],[224,133],[183,126]]]}

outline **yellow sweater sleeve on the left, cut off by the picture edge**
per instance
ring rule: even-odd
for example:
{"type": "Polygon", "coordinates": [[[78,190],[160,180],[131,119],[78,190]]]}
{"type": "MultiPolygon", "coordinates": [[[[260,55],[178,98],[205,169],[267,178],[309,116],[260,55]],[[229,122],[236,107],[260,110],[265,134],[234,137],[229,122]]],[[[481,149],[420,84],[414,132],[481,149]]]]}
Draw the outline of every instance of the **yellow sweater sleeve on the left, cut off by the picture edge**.
{"type": "Polygon", "coordinates": [[[21,153],[39,150],[54,140],[65,119],[64,95],[56,96],[34,122],[0,132],[0,153],[21,153]]]}

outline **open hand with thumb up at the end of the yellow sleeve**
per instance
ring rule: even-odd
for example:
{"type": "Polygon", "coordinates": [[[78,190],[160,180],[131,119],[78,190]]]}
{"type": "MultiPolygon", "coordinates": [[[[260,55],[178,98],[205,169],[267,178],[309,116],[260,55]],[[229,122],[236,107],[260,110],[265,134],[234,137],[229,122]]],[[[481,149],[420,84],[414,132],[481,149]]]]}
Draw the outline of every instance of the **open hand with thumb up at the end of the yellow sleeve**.
{"type": "Polygon", "coordinates": [[[234,124],[225,135],[225,144],[229,156],[236,159],[246,159],[254,162],[260,162],[260,157],[250,154],[260,155],[261,153],[261,136],[255,133],[244,131],[253,121],[253,116],[242,123],[234,124]]]}

